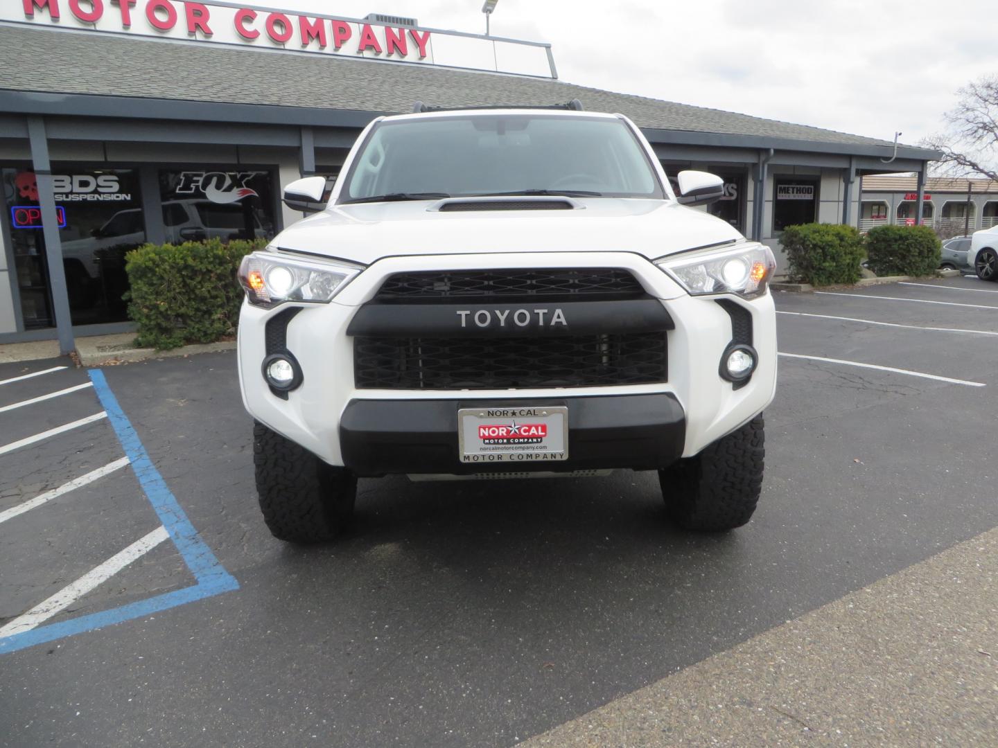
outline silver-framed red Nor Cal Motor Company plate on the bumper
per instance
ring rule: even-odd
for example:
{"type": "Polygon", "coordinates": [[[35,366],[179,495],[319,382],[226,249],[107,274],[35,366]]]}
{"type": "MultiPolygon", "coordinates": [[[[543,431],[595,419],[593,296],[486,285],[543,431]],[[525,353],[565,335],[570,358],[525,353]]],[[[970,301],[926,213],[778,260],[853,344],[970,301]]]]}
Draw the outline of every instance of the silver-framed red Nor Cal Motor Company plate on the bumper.
{"type": "Polygon", "coordinates": [[[462,408],[462,463],[498,465],[568,460],[568,408],[462,408]]]}

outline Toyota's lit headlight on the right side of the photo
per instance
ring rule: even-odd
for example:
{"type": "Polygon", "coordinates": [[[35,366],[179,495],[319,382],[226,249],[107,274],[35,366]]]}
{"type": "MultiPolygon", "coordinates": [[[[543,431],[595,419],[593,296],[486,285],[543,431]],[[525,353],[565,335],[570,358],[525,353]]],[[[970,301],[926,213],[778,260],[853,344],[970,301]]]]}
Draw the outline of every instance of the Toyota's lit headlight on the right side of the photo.
{"type": "Polygon", "coordinates": [[[738,293],[757,296],[776,269],[776,260],[765,244],[742,244],[732,249],[662,257],[655,264],[668,272],[693,295],[738,293]]]}

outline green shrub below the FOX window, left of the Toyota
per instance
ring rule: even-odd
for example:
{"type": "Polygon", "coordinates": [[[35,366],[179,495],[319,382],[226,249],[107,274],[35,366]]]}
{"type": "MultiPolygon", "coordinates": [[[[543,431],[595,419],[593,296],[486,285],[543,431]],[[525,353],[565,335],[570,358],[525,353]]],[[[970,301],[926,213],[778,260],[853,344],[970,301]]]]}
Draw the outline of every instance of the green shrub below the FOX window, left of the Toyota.
{"type": "Polygon", "coordinates": [[[145,244],[126,256],[132,285],[129,316],[139,324],[136,345],[160,350],[211,343],[236,330],[243,289],[240,260],[261,239],[145,244]]]}

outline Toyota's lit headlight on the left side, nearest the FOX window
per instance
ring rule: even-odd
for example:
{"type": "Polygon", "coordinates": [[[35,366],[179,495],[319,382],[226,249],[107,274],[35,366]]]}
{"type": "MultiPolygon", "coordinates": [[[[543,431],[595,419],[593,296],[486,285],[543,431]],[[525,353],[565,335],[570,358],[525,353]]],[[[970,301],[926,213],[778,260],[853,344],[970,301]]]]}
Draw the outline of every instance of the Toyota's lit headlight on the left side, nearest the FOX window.
{"type": "Polygon", "coordinates": [[[259,251],[243,258],[240,283],[250,303],[274,306],[281,301],[325,303],[363,268],[320,258],[259,251]]]}

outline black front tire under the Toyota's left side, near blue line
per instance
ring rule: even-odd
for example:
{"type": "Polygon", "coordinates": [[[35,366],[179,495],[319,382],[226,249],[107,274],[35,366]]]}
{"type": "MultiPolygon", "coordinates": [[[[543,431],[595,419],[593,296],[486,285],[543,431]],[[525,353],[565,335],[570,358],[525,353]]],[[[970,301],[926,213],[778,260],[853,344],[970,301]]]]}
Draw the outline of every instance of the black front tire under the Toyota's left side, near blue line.
{"type": "Polygon", "coordinates": [[[339,535],[353,514],[356,477],[260,423],[252,436],[259,508],[273,537],[307,544],[339,535]]]}

